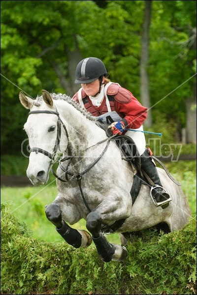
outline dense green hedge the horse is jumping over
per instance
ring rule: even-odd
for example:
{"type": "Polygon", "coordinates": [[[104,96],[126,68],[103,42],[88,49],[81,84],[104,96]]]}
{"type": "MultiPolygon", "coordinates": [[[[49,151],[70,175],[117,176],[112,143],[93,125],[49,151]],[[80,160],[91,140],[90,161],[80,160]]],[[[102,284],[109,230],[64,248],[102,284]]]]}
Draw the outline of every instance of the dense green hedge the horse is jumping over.
{"type": "Polygon", "coordinates": [[[1,294],[196,294],[195,217],[174,233],[132,234],[125,262],[104,263],[95,246],[31,236],[2,204],[1,294]]]}

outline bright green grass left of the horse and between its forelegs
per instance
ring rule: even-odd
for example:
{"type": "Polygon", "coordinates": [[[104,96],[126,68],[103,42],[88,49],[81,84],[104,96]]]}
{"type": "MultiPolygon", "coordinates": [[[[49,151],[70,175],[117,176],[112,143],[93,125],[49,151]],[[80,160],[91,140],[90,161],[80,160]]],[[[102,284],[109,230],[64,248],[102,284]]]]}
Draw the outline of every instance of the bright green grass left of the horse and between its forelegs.
{"type": "MultiPolygon", "coordinates": [[[[55,226],[45,216],[45,205],[53,202],[56,196],[57,189],[53,184],[44,187],[1,188],[1,203],[9,203],[11,213],[27,224],[34,238],[47,242],[63,241],[55,226]]],[[[86,221],[81,219],[72,225],[72,228],[86,230],[86,221]]],[[[107,236],[107,239],[110,242],[120,243],[118,234],[107,236]]]]}

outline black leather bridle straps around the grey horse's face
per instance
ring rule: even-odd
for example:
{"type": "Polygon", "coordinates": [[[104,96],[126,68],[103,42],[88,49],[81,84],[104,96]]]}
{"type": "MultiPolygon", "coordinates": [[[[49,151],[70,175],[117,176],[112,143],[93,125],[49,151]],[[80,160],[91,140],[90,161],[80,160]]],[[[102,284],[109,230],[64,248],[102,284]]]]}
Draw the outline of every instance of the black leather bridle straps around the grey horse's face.
{"type": "Polygon", "coordinates": [[[42,154],[44,154],[45,156],[48,156],[50,159],[51,159],[51,163],[55,163],[54,162],[54,158],[55,158],[55,155],[56,155],[56,152],[58,150],[58,147],[60,145],[60,138],[61,138],[61,123],[66,131],[66,136],[67,136],[67,139],[68,139],[68,132],[67,132],[67,129],[66,129],[66,126],[65,124],[63,123],[62,119],[60,118],[60,114],[58,113],[57,109],[56,109],[56,112],[53,112],[53,111],[31,111],[29,112],[29,115],[31,114],[51,114],[51,115],[56,115],[58,116],[58,121],[57,121],[57,137],[56,137],[56,143],[55,143],[55,147],[53,149],[53,153],[51,154],[50,152],[42,149],[42,148],[30,148],[30,152],[32,151],[35,151],[36,153],[40,152],[42,154]]]}

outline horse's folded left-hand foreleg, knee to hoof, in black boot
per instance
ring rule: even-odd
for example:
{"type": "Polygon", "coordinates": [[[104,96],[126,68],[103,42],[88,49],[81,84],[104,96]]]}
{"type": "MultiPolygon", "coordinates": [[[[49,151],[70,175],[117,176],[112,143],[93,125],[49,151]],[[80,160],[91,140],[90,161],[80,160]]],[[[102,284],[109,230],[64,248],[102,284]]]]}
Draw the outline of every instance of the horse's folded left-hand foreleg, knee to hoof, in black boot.
{"type": "Polygon", "coordinates": [[[86,231],[75,230],[62,219],[61,208],[58,204],[51,203],[46,207],[47,219],[56,226],[56,231],[75,248],[88,247],[92,243],[92,237],[86,231]]]}

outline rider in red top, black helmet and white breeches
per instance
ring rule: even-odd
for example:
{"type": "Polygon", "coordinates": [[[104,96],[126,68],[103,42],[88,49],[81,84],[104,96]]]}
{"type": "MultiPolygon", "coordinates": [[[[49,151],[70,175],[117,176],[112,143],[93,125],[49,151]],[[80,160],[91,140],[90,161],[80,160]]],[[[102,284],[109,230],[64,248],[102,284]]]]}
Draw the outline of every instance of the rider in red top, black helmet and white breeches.
{"type": "Polygon", "coordinates": [[[129,136],[137,147],[141,168],[151,178],[155,205],[166,208],[171,198],[162,187],[150,148],[146,148],[143,122],[147,108],[143,107],[132,93],[108,79],[104,63],[94,57],[82,59],[76,67],[75,84],[81,84],[72,97],[93,116],[108,123],[113,135],[129,136]],[[126,130],[135,129],[139,132],[126,130]]]}

